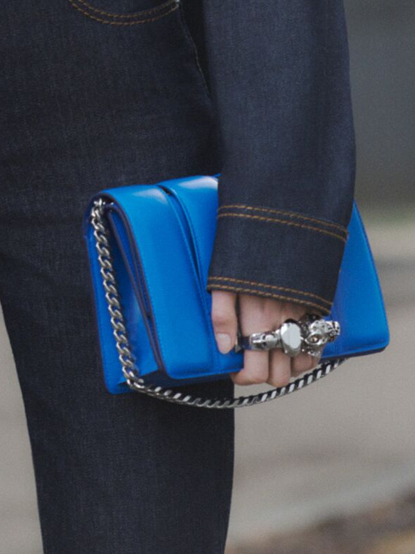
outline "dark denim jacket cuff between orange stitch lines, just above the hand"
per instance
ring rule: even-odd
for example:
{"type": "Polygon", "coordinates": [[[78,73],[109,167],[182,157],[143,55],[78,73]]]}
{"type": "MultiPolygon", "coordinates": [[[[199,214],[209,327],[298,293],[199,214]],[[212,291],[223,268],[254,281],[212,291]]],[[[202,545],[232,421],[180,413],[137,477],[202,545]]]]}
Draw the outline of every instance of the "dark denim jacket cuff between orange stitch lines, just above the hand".
{"type": "Polygon", "coordinates": [[[266,206],[219,207],[206,290],[256,294],[330,314],[349,232],[266,206]]]}

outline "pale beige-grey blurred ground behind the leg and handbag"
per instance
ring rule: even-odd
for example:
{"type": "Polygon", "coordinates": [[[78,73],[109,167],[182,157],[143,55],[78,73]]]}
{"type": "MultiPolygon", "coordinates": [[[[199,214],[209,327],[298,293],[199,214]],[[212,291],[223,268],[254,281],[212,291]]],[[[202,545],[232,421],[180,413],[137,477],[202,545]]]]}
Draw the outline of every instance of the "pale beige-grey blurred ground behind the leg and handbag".
{"type": "MultiPolygon", "coordinates": [[[[391,344],[303,391],[236,411],[229,554],[415,490],[415,223],[365,221],[391,344]]],[[[0,554],[40,554],[23,404],[2,325],[0,368],[0,554]]]]}

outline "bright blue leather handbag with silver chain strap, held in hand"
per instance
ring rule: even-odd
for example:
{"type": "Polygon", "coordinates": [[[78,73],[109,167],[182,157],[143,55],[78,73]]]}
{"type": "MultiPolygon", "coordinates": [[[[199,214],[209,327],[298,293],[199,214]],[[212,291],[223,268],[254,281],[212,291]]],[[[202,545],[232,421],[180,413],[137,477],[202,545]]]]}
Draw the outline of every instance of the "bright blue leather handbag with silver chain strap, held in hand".
{"type": "Polygon", "coordinates": [[[216,175],[108,188],[91,198],[83,221],[105,386],[206,408],[251,406],[290,394],[352,356],[389,344],[376,267],[354,201],[330,315],[340,335],[310,373],[278,389],[235,399],[204,399],[179,387],[226,379],[243,352],[221,354],[206,282],[216,232],[216,175]]]}

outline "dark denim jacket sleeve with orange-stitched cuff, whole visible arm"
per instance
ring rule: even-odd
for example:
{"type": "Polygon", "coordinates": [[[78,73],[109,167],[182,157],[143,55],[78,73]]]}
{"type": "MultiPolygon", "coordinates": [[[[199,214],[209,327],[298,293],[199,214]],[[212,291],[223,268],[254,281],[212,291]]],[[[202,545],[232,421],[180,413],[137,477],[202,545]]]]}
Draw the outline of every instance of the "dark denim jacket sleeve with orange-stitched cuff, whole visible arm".
{"type": "Polygon", "coordinates": [[[352,213],[343,0],[204,0],[222,167],[206,290],[329,314],[352,213]]]}

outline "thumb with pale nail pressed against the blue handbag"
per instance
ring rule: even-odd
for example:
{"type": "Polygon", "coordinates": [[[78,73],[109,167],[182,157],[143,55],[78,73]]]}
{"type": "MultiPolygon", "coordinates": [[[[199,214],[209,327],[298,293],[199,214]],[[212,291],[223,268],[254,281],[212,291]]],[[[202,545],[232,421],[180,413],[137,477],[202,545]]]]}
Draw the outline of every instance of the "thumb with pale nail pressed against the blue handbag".
{"type": "Polygon", "coordinates": [[[212,290],[211,319],[216,344],[222,354],[227,354],[234,346],[238,332],[236,315],[236,294],[224,290],[212,290]]]}

